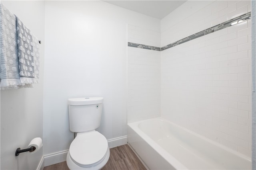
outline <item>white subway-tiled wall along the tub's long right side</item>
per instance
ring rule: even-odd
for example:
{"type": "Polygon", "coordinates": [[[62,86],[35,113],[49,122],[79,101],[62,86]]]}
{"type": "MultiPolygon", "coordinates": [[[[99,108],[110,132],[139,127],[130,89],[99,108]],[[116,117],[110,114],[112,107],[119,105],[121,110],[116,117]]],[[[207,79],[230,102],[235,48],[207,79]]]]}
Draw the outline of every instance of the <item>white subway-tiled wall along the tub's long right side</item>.
{"type": "MultiPolygon", "coordinates": [[[[161,20],[161,45],[249,11],[250,1],[188,1],[161,20]]],[[[249,158],[250,26],[245,21],[161,51],[162,116],[249,158]]]]}

